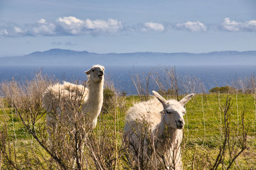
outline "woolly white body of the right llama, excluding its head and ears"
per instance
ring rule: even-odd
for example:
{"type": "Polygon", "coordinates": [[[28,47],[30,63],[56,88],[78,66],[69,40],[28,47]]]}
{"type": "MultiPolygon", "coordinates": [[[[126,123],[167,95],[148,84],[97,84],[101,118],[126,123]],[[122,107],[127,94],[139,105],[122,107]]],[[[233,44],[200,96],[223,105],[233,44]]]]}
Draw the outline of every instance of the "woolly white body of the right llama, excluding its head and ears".
{"type": "MultiPolygon", "coordinates": [[[[163,105],[156,99],[152,99],[147,102],[142,102],[142,103],[137,103],[134,104],[132,108],[130,108],[127,111],[127,116],[125,118],[126,124],[124,127],[124,131],[127,132],[125,133],[125,136],[127,138],[131,138],[132,142],[138,143],[140,134],[141,134],[141,129],[143,124],[147,124],[147,127],[149,128],[148,130],[153,132],[153,135],[156,138],[159,139],[166,139],[166,133],[165,133],[165,124],[162,122],[163,120],[163,105]],[[134,132],[135,131],[135,132],[134,132]]],[[[167,134],[169,141],[172,141],[172,144],[166,144],[165,141],[158,141],[156,144],[157,151],[161,155],[166,155],[169,154],[167,157],[170,158],[175,158],[175,164],[176,164],[176,169],[179,169],[178,167],[181,167],[182,169],[182,162],[180,160],[180,143],[182,141],[182,130],[180,129],[173,129],[172,127],[168,127],[167,129],[167,134]],[[173,145],[177,146],[173,146],[173,145]],[[164,148],[165,145],[165,148],[164,148]],[[166,148],[169,147],[169,148],[166,148]],[[177,148],[175,152],[173,152],[173,148],[177,148]],[[169,152],[169,153],[164,153],[164,152],[169,152]],[[173,155],[175,153],[175,155],[173,155]],[[179,164],[179,166],[178,166],[179,164]]],[[[138,145],[138,144],[137,144],[138,145]]],[[[147,148],[148,148],[148,143],[145,140],[144,141],[144,152],[147,154],[147,148]]],[[[159,162],[156,159],[154,159],[154,164],[155,167],[159,166],[159,162]]],[[[168,160],[168,162],[172,162],[172,160],[168,160]]]]}

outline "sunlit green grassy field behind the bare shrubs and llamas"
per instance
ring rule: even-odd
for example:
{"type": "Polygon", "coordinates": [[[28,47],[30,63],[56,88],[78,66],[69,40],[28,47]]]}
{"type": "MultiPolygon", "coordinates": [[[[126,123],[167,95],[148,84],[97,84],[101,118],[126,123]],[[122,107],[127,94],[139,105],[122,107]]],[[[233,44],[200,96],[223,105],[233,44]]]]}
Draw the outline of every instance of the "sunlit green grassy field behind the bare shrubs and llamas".
{"type": "MultiPolygon", "coordinates": [[[[166,98],[172,98],[168,96],[166,98]]],[[[230,120],[230,139],[232,142],[239,143],[239,138],[242,135],[243,127],[241,125],[242,115],[244,113],[244,125],[247,131],[247,149],[236,159],[231,169],[255,169],[256,168],[256,131],[255,131],[255,96],[254,94],[227,94],[227,93],[212,93],[212,94],[196,94],[188,104],[186,104],[187,113],[184,116],[186,125],[184,128],[184,142],[182,145],[182,160],[184,169],[211,169],[211,164],[216,159],[220,146],[223,143],[225,136],[224,113],[223,109],[227,101],[227,97],[231,99],[231,107],[229,110],[230,120]]],[[[181,96],[180,96],[181,98],[181,96]]],[[[139,102],[140,97],[128,96],[117,97],[116,106],[109,107],[108,113],[102,113],[99,117],[99,122],[95,133],[99,136],[102,132],[108,132],[109,135],[116,134],[118,152],[116,155],[122,155],[119,151],[122,145],[122,129],[125,123],[125,111],[132,106],[133,103],[139,102]],[[108,129],[108,130],[106,130],[108,129]],[[115,131],[115,132],[114,132],[115,131]]],[[[108,103],[104,103],[108,104],[108,103]]],[[[50,158],[44,149],[42,149],[33,139],[31,134],[26,130],[19,116],[15,115],[12,107],[0,110],[0,124],[1,129],[7,125],[8,141],[11,145],[18,148],[19,154],[17,159],[24,169],[26,161],[34,161],[38,167],[48,169],[46,163],[50,158]],[[36,148],[36,152],[30,153],[28,148],[36,148]],[[28,153],[28,159],[23,158],[23,153],[28,153]],[[36,155],[38,159],[33,159],[36,155]],[[40,162],[40,166],[38,166],[40,162]]],[[[45,116],[41,118],[40,122],[44,122],[45,116]]],[[[17,152],[16,151],[16,152],[17,152]]],[[[10,151],[12,152],[12,151],[10,151]]],[[[234,151],[236,152],[236,151],[234,151]]],[[[25,154],[26,155],[26,154],[25,154]]],[[[229,156],[224,161],[229,161],[229,156]]],[[[13,169],[8,165],[8,161],[4,161],[1,157],[1,166],[13,169]]],[[[125,162],[118,159],[118,169],[126,169],[125,162]]],[[[1,167],[0,166],[0,167],[1,167]]],[[[227,167],[219,167],[219,169],[226,169],[227,167]]],[[[39,168],[41,169],[41,168],[39,168]]],[[[54,166],[52,167],[54,169],[54,166]]]]}

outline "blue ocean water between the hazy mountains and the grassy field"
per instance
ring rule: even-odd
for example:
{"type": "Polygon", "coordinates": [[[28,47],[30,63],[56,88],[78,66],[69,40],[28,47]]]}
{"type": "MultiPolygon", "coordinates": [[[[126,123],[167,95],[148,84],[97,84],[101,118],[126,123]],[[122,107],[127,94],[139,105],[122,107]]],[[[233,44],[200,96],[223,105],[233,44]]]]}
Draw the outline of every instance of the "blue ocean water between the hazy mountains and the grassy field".
{"type": "MultiPolygon", "coordinates": [[[[112,81],[115,88],[120,92],[124,91],[127,94],[137,94],[132,82],[131,76],[134,74],[147,75],[148,73],[159,73],[168,67],[106,67],[106,80],[112,81]]],[[[47,75],[49,78],[58,81],[71,81],[82,83],[86,80],[84,71],[90,67],[63,67],[63,66],[1,66],[0,67],[0,82],[10,81],[14,78],[17,81],[31,80],[35,77],[38,71],[47,75]]],[[[172,66],[173,69],[173,66],[172,66]]],[[[191,76],[198,78],[204,83],[205,90],[208,91],[212,87],[232,85],[239,78],[243,79],[256,74],[256,66],[175,66],[175,71],[179,78],[191,76]]],[[[153,81],[150,81],[150,90],[157,90],[153,81]]]]}

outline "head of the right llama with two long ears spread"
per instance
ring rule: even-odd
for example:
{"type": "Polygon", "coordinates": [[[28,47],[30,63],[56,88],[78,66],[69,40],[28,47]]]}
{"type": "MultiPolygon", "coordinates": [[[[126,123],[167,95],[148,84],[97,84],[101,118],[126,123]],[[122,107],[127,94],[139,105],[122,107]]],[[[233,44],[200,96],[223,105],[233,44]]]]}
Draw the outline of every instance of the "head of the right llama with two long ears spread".
{"type": "Polygon", "coordinates": [[[180,101],[175,101],[173,99],[167,101],[157,92],[152,92],[157,97],[157,99],[163,104],[164,124],[174,129],[183,129],[185,125],[183,116],[186,113],[184,105],[188,103],[188,101],[194,96],[194,94],[189,94],[180,101]]]}

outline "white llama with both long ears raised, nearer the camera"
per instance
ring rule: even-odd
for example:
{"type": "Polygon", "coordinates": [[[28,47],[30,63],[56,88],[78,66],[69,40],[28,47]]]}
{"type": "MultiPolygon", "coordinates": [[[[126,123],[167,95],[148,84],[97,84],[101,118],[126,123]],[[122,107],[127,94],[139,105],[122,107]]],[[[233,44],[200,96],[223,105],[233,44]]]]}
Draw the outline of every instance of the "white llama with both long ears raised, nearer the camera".
{"type": "Polygon", "coordinates": [[[154,98],[134,104],[127,111],[124,139],[133,157],[130,161],[137,167],[183,169],[180,145],[185,124],[184,104],[194,94],[180,101],[167,101],[157,92],[152,92],[158,100],[154,98]]]}

